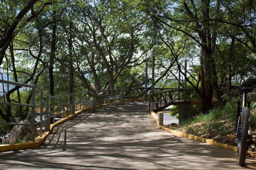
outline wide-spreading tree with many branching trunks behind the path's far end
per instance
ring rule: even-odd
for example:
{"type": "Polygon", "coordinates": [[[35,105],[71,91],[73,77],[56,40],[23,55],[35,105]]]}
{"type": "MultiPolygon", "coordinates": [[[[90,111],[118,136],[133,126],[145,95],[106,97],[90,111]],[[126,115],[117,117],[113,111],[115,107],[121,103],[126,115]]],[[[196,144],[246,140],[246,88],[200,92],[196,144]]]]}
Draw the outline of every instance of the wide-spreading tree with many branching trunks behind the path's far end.
{"type": "Polygon", "coordinates": [[[146,18],[129,5],[122,1],[89,1],[72,7],[70,13],[79,21],[74,24],[77,27],[73,48],[80,49],[79,53],[73,51],[74,70],[88,91],[110,89],[111,95],[114,94],[122,71],[144,61],[142,56],[149,48],[140,48],[139,41],[143,42],[146,18]],[[92,74],[92,80],[86,77],[88,73],[92,74]]]}

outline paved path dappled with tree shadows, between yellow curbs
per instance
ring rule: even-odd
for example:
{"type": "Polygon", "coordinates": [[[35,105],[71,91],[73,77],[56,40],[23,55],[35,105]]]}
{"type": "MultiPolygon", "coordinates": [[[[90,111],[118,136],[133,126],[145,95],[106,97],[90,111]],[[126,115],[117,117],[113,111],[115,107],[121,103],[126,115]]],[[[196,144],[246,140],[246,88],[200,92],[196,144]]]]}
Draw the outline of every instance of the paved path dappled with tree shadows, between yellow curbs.
{"type": "Polygon", "coordinates": [[[159,130],[147,106],[82,113],[55,127],[40,148],[0,153],[0,169],[244,169],[234,151],[159,130]]]}

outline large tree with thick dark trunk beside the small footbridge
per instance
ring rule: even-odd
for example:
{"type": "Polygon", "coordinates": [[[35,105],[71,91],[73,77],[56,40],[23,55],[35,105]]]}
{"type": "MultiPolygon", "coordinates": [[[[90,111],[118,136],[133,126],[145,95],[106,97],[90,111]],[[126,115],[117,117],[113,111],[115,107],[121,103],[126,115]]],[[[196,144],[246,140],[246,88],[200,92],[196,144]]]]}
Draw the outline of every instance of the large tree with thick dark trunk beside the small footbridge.
{"type": "MultiPolygon", "coordinates": [[[[200,86],[198,92],[203,102],[203,113],[212,107],[213,89],[222,104],[213,58],[216,48],[217,21],[210,23],[210,16],[219,17],[220,2],[217,1],[158,1],[144,5],[144,11],[155,21],[189,36],[200,47],[200,86]],[[196,34],[195,34],[196,32],[196,34]]],[[[184,73],[183,73],[184,75],[184,73]]],[[[185,75],[184,75],[185,76],[185,75]]],[[[188,78],[186,77],[188,80],[188,78]]]]}

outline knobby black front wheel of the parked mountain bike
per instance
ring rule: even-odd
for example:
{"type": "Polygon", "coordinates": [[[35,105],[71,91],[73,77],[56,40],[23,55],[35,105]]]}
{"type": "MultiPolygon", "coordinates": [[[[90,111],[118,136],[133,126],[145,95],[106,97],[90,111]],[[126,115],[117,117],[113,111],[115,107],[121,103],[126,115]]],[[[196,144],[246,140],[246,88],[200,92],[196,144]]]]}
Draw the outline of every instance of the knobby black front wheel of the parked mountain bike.
{"type": "Polygon", "coordinates": [[[239,165],[245,165],[245,157],[247,153],[247,140],[248,140],[248,125],[249,125],[249,108],[244,107],[242,110],[242,120],[241,120],[241,130],[240,130],[240,138],[239,138],[239,165]]]}

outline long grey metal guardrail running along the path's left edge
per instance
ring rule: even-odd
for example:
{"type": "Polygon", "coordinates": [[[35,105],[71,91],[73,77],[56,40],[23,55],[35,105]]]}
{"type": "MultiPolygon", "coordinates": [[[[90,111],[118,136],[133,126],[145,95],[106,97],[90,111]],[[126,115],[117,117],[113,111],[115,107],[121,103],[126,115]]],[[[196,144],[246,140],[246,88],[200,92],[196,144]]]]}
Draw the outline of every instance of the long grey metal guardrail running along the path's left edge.
{"type": "Polygon", "coordinates": [[[37,125],[39,125],[39,133],[40,137],[42,137],[43,131],[50,131],[50,124],[51,122],[54,122],[56,117],[65,118],[69,114],[74,114],[75,110],[87,109],[88,105],[86,104],[86,102],[91,103],[89,107],[92,109],[93,107],[95,108],[96,105],[108,104],[111,102],[115,103],[118,100],[123,100],[127,98],[143,98],[143,94],[139,92],[138,88],[114,89],[114,93],[113,90],[100,90],[78,92],[73,94],[63,94],[49,97],[34,85],[10,82],[6,80],[0,80],[0,83],[20,86],[22,88],[31,88],[32,97],[30,104],[0,102],[0,105],[5,106],[9,105],[31,108],[31,123],[0,122],[0,125],[31,126],[32,142],[35,141],[35,130],[37,125]],[[39,103],[36,102],[36,97],[40,97],[39,103]],[[36,121],[37,116],[39,116],[38,121],[36,121]]]}

